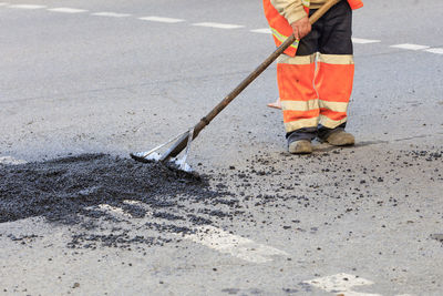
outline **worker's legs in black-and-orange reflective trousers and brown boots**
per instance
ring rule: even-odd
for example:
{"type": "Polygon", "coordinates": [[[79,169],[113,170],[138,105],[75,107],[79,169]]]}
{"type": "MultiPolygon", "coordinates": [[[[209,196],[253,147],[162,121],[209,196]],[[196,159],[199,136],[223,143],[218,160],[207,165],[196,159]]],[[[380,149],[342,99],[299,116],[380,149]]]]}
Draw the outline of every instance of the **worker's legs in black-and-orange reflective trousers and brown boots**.
{"type": "MultiPolygon", "coordinates": [[[[313,13],[311,10],[310,13],[313,13]]],[[[315,137],[351,145],[344,132],[353,83],[352,10],[341,1],[312,25],[297,55],[277,60],[277,81],[288,147],[310,153],[315,137]]]]}

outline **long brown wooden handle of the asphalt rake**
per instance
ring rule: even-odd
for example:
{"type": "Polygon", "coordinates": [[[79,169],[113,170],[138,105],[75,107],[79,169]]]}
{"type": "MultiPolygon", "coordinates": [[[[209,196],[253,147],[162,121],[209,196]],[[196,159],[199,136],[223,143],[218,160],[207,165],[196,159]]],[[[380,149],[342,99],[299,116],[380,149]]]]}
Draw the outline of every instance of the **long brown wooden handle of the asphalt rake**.
{"type": "MultiPolygon", "coordinates": [[[[313,24],[331,7],[333,7],[340,1],[341,0],[329,0],[328,2],[326,2],[309,18],[310,23],[313,24]]],[[[286,41],[278,49],[276,49],[276,51],[274,51],[259,67],[257,67],[256,70],[254,70],[245,80],[243,80],[237,85],[237,88],[235,88],[228,95],[226,95],[225,99],[223,99],[223,101],[219,102],[218,105],[216,105],[206,116],[204,116],[194,126],[193,140],[196,139],[197,135],[202,132],[202,130],[205,129],[205,126],[208,125],[215,119],[215,116],[218,115],[218,113],[220,113],[234,99],[236,99],[237,95],[240,94],[240,92],[243,92],[243,90],[245,90],[257,76],[259,76],[295,41],[296,38],[293,37],[293,34],[290,35],[288,39],[286,39],[286,41]]],[[[168,160],[169,157],[177,156],[186,147],[187,141],[188,141],[187,134],[178,139],[177,142],[163,154],[161,161],[163,162],[168,160]]]]}

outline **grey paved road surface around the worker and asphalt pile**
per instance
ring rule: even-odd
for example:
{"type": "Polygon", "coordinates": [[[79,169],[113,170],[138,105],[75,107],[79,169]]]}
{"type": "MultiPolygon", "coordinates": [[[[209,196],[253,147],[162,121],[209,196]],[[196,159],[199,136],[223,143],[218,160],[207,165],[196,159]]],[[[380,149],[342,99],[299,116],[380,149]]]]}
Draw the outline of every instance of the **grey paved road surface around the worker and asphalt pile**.
{"type": "MultiPolygon", "coordinates": [[[[2,223],[0,294],[442,295],[442,11],[372,0],[354,13],[356,147],[289,155],[281,115],[266,108],[278,96],[272,65],[189,156],[241,214],[130,248],[69,248],[80,226],[41,217],[2,223]]],[[[0,160],[127,156],[165,142],[274,50],[253,31],[266,27],[260,1],[0,2],[0,160]],[[140,19],[153,16],[175,20],[140,19]]],[[[153,232],[150,217],[104,211],[120,222],[103,233],[153,232]]]]}

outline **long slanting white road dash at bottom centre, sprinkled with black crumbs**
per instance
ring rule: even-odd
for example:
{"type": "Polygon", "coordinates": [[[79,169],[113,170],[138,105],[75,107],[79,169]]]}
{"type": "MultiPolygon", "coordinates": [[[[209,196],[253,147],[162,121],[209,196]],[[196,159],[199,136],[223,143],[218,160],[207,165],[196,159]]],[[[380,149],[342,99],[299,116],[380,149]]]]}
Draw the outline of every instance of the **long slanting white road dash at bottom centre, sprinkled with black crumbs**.
{"type": "Polygon", "coordinates": [[[257,244],[214,226],[198,227],[195,234],[185,235],[184,238],[251,263],[270,262],[272,256],[288,256],[286,252],[257,244]]]}

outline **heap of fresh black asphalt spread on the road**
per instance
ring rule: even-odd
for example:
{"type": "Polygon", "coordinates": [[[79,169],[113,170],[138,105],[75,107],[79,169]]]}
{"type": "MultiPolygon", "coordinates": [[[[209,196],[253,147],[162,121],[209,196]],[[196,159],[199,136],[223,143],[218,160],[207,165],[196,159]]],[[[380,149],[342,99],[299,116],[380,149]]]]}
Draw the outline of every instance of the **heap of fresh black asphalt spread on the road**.
{"type": "MultiPolygon", "coordinates": [[[[154,220],[186,221],[188,225],[212,224],[212,217],[229,215],[223,211],[203,211],[204,216],[196,213],[195,208],[204,210],[208,201],[223,203],[229,196],[220,188],[212,190],[205,176],[107,154],[0,165],[0,223],[42,216],[50,223],[91,229],[100,226],[99,220],[117,222],[115,213],[103,211],[103,205],[138,220],[148,214],[154,220]]],[[[171,223],[145,226],[176,233],[192,231],[171,223]]],[[[80,244],[85,237],[86,233],[80,229],[72,244],[80,244]]],[[[127,236],[127,229],[87,238],[111,244],[116,239],[153,243],[152,237],[127,236]]]]}

